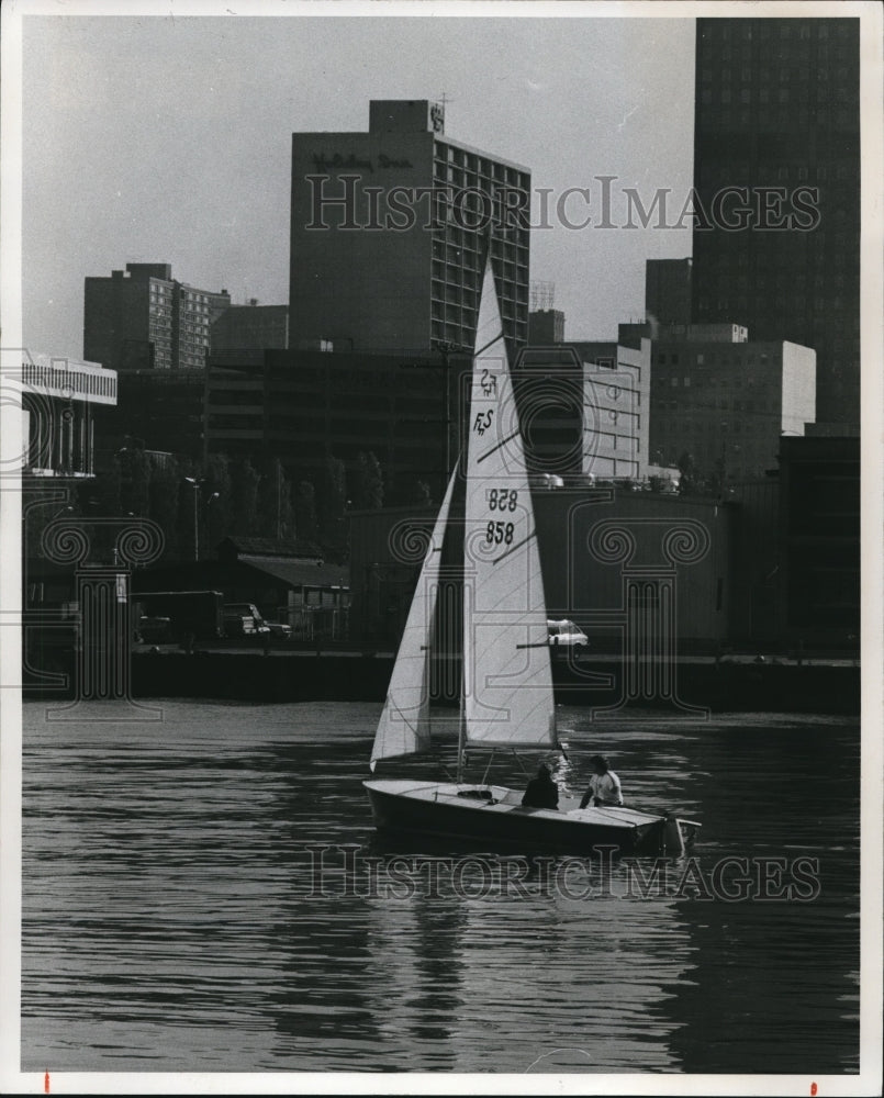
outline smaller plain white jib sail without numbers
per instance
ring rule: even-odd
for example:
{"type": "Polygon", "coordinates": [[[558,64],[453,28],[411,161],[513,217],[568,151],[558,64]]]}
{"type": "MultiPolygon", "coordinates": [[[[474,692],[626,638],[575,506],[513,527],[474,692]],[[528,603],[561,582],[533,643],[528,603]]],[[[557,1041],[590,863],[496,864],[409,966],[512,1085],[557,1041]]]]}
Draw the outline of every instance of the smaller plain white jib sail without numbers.
{"type": "Polygon", "coordinates": [[[433,615],[439,595],[439,564],[455,475],[448,482],[433,527],[433,537],[393,664],[387,701],[371,750],[372,771],[379,759],[414,754],[429,749],[429,643],[433,615]]]}

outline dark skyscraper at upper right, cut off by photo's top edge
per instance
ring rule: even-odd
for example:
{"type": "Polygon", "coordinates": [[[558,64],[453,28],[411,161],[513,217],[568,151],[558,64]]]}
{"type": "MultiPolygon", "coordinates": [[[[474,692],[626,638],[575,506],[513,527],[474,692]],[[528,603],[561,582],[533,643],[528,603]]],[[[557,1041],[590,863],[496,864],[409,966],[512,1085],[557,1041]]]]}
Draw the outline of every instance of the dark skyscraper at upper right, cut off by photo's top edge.
{"type": "Polygon", "coordinates": [[[860,419],[860,21],[697,20],[693,320],[817,352],[817,422],[860,419]]]}

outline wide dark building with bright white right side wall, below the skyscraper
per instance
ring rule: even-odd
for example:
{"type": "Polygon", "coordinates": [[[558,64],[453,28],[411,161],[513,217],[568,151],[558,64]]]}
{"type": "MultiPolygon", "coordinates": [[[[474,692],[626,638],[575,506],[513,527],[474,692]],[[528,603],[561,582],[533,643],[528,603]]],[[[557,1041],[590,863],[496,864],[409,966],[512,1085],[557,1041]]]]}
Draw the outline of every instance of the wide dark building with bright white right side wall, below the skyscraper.
{"type": "Polygon", "coordinates": [[[814,422],[816,354],[719,327],[717,339],[701,325],[686,329],[687,338],[673,329],[653,340],[651,458],[674,466],[690,453],[701,475],[764,477],[776,469],[781,436],[804,435],[814,422]]]}

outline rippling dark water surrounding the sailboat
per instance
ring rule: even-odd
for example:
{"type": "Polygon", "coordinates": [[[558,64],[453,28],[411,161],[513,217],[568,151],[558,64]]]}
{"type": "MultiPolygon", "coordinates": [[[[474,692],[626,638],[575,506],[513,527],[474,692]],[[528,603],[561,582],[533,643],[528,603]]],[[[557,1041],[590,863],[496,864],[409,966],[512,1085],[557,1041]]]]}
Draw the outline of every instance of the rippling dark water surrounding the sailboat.
{"type": "Polygon", "coordinates": [[[437,895],[395,898],[360,786],[380,706],[164,702],[138,724],[25,708],[24,1071],[858,1069],[855,724],[560,709],[573,792],[608,752],[627,803],[703,822],[706,883],[727,855],[803,855],[815,898],[728,903],[684,881],[641,898],[622,864],[606,889],[594,865],[571,874],[571,896],[535,878],[482,895],[467,866],[468,887],[441,874],[437,895]],[[382,887],[348,895],[336,849],[318,878],[309,843],[359,844],[382,887]]]}

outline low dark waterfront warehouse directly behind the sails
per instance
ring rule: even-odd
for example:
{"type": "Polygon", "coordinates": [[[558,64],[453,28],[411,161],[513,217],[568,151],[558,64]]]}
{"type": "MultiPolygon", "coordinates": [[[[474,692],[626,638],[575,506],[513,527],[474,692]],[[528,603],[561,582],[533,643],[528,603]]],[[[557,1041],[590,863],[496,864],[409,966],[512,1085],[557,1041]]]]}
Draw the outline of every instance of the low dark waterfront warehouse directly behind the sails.
{"type": "MultiPolygon", "coordinates": [[[[653,619],[670,594],[675,601],[676,648],[714,649],[728,637],[735,507],[718,506],[715,500],[586,485],[534,491],[533,498],[547,610],[584,629],[593,652],[625,651],[637,615],[646,623],[653,619]],[[634,546],[628,563],[604,550],[607,529],[617,530],[623,545],[634,546]],[[667,538],[680,529],[696,535],[704,551],[673,568],[667,538]],[[640,571],[640,590],[631,583],[629,568],[640,571]]],[[[415,508],[351,515],[355,643],[395,651],[419,571],[407,546],[413,531],[429,533],[434,519],[433,511],[415,508]]],[[[455,597],[454,606],[459,604],[455,597]]],[[[675,652],[670,649],[670,654],[675,652]]]]}

